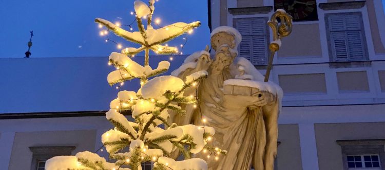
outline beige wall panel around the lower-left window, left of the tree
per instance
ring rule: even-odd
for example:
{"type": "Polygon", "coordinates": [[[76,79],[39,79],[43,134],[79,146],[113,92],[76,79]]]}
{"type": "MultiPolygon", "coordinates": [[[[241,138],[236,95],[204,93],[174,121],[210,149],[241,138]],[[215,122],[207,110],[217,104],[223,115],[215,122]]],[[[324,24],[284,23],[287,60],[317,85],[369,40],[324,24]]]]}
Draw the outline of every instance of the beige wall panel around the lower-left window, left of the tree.
{"type": "Polygon", "coordinates": [[[9,170],[30,169],[32,152],[29,147],[74,146],[72,155],[95,150],[96,130],[16,132],[9,170]]]}

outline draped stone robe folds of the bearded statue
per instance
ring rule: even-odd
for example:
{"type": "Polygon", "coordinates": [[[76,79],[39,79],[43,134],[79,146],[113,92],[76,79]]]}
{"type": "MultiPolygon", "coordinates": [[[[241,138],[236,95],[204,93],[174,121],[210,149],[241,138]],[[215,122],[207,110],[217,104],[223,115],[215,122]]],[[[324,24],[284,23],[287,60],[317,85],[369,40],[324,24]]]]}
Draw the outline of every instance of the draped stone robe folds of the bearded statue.
{"type": "MultiPolygon", "coordinates": [[[[202,125],[201,118],[204,117],[207,119],[205,125],[215,128],[214,138],[209,142],[226,150],[227,155],[219,155],[219,160],[215,160],[212,155],[208,159],[207,153],[195,155],[206,160],[209,169],[248,170],[253,165],[256,170],[273,170],[277,153],[279,98],[282,95],[273,94],[277,97],[268,104],[269,106],[249,107],[249,102],[245,100],[250,99],[250,96],[223,94],[223,82],[234,79],[237,74],[236,65],[233,63],[219,75],[210,75],[209,72],[208,78],[197,87],[200,108],[184,105],[182,109],[187,111],[186,114],[171,116],[171,121],[178,125],[202,125]]],[[[185,79],[195,71],[187,69],[178,77],[185,79]]],[[[263,81],[263,76],[258,74],[252,74],[254,80],[263,81]]],[[[185,95],[195,93],[194,87],[185,91],[185,95]]]]}

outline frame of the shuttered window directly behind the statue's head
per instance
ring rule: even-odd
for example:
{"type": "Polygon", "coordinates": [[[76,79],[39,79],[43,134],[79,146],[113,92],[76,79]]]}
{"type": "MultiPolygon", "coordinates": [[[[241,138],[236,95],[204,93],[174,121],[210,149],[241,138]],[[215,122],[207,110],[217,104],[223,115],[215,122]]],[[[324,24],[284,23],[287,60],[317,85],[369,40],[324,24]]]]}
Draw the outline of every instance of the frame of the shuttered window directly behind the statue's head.
{"type": "MultiPolygon", "coordinates": [[[[269,29],[269,26],[267,25],[267,21],[269,20],[269,18],[268,17],[258,17],[258,16],[256,16],[256,17],[237,17],[237,18],[233,18],[233,27],[235,28],[235,29],[237,29],[238,30],[238,28],[237,28],[237,21],[238,20],[250,20],[251,21],[251,19],[263,19],[265,22],[265,38],[266,38],[266,44],[265,44],[265,50],[266,50],[266,56],[265,56],[265,63],[264,64],[254,64],[254,60],[253,60],[253,56],[250,56],[250,60],[248,60],[248,61],[250,61],[254,66],[266,66],[267,64],[268,64],[268,60],[269,60],[269,56],[270,56],[270,50],[269,50],[269,48],[268,48],[268,45],[270,44],[270,29],[269,29]]],[[[241,33],[241,35],[242,35],[242,33],[241,33]]],[[[261,36],[261,35],[247,35],[247,36],[250,36],[250,37],[252,37],[252,36],[261,36]]],[[[242,41],[243,41],[243,36],[242,36],[242,41]]],[[[252,44],[251,44],[251,46],[252,46],[252,44]]],[[[238,56],[239,57],[242,57],[242,56],[240,56],[241,54],[241,52],[240,52],[240,47],[241,47],[241,42],[239,43],[239,45],[238,45],[238,49],[237,49],[237,51],[238,51],[238,56]]],[[[253,54],[253,48],[251,48],[251,55],[253,54]]]]}

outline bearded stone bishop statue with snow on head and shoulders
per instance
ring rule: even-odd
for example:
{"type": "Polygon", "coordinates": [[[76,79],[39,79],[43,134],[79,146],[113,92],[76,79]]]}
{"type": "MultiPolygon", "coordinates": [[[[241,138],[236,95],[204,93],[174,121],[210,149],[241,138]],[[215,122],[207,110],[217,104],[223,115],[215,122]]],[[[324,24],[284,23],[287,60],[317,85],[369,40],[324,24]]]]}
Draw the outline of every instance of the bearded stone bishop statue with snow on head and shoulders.
{"type": "MultiPolygon", "coordinates": [[[[232,27],[219,27],[211,33],[212,58],[206,51],[186,58],[171,75],[183,80],[194,72],[206,70],[208,77],[184,95],[195,95],[198,108],[184,105],[186,115],[171,116],[178,125],[195,124],[214,127],[214,145],[227,150],[219,160],[207,159],[204,153],[195,155],[207,161],[209,169],[273,170],[277,154],[278,115],[282,89],[263,82],[263,75],[243,57],[237,57],[240,33],[232,27]]],[[[175,154],[175,153],[174,153],[175,154]]]]}

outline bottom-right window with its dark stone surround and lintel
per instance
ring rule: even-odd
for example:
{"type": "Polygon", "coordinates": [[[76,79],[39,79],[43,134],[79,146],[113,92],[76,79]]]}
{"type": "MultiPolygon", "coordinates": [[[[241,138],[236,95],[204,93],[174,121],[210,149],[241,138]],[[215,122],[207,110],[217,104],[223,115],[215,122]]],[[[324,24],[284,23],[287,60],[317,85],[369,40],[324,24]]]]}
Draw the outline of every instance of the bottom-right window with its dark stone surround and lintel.
{"type": "Polygon", "coordinates": [[[385,167],[385,139],[337,140],[341,146],[344,170],[385,167]]]}

